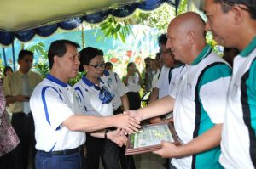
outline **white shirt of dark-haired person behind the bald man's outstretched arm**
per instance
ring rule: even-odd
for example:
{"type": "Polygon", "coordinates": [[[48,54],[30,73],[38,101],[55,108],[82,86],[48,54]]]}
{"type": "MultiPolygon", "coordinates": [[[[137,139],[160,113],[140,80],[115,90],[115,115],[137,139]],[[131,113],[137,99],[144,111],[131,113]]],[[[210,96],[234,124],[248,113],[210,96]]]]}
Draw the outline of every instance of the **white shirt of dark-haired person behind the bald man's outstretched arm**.
{"type": "Polygon", "coordinates": [[[169,93],[169,82],[171,81],[171,68],[168,68],[166,66],[162,67],[162,70],[160,72],[160,77],[158,82],[156,83],[156,87],[159,88],[159,94],[158,99],[161,99],[168,95],[169,93]]]}

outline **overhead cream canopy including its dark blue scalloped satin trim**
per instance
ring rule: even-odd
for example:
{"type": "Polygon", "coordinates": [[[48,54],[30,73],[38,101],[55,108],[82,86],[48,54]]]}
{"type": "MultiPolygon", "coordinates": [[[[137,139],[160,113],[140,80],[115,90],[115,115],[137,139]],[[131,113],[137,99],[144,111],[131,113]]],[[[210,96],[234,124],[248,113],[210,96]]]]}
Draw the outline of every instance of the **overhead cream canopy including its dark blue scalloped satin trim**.
{"type": "Polygon", "coordinates": [[[35,35],[48,37],[58,28],[72,30],[82,22],[100,23],[111,14],[127,17],[137,8],[154,10],[162,3],[177,8],[180,0],[2,0],[0,5],[0,45],[6,65],[4,46],[12,45],[15,60],[14,40],[30,41],[35,35]]]}

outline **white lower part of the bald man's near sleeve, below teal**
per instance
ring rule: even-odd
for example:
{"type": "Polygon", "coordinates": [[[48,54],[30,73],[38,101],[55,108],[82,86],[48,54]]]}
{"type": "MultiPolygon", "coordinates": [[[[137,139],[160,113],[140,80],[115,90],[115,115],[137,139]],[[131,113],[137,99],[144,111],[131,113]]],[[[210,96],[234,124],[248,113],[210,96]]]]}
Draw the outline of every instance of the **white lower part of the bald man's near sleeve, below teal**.
{"type": "Polygon", "coordinates": [[[227,105],[230,76],[221,77],[216,81],[201,86],[200,99],[213,123],[223,123],[227,105]]]}

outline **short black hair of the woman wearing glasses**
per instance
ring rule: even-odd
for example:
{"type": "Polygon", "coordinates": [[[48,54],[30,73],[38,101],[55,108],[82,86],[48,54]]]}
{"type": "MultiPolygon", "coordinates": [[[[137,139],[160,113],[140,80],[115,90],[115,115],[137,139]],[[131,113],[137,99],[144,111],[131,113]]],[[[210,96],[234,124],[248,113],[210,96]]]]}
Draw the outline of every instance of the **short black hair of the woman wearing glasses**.
{"type": "Polygon", "coordinates": [[[94,59],[96,56],[103,56],[102,50],[93,47],[86,47],[80,51],[80,66],[79,72],[84,71],[83,65],[89,65],[90,60],[94,59]]]}

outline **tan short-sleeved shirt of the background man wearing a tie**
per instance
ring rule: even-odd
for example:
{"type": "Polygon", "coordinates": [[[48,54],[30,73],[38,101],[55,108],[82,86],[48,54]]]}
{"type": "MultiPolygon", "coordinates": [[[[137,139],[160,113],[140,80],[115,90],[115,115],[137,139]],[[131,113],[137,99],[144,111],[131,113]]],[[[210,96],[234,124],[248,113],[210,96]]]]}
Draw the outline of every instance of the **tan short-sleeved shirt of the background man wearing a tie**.
{"type": "MultiPolygon", "coordinates": [[[[33,71],[29,71],[27,74],[28,81],[28,92],[30,95],[34,88],[42,81],[42,77],[33,71]]],[[[22,83],[23,83],[24,74],[18,70],[12,75],[6,76],[3,82],[3,90],[6,96],[16,96],[22,94],[22,83]]],[[[23,111],[23,102],[15,102],[9,104],[9,110],[12,113],[22,112],[23,111]]]]}

